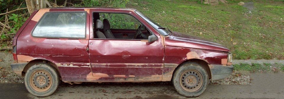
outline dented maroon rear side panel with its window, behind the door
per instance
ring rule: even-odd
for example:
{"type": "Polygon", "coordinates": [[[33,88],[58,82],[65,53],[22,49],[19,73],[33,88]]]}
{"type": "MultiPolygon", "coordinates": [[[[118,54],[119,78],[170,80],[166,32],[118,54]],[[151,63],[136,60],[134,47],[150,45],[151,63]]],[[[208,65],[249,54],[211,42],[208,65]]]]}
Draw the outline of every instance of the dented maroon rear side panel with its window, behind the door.
{"type": "Polygon", "coordinates": [[[78,78],[91,72],[87,13],[39,11],[27,24],[34,29],[25,28],[18,37],[18,60],[49,60],[57,65],[63,81],[81,81],[78,78]]]}

